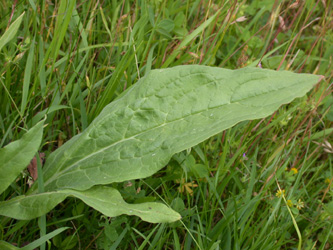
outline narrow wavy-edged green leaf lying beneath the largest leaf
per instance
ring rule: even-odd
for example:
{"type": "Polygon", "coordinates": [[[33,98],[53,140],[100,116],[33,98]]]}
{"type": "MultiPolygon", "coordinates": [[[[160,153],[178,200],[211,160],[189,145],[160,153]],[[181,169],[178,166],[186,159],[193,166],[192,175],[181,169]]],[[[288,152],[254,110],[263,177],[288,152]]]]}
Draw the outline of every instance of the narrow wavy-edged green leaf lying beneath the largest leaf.
{"type": "Polygon", "coordinates": [[[136,215],[151,223],[173,222],[180,219],[177,212],[161,203],[128,204],[118,190],[106,186],[95,186],[85,191],[60,190],[18,196],[9,201],[0,202],[0,215],[19,220],[31,220],[49,212],[68,196],[77,197],[110,217],[121,214],[136,215]]]}

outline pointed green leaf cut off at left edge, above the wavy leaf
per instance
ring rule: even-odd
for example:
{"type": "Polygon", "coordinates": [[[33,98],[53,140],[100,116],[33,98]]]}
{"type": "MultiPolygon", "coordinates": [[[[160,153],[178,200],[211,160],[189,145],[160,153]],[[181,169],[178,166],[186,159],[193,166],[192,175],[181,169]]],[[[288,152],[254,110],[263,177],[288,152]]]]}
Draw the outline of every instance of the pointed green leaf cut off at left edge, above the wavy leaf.
{"type": "Polygon", "coordinates": [[[34,157],[42,141],[43,124],[44,120],[37,123],[21,139],[0,149],[0,194],[34,157]]]}

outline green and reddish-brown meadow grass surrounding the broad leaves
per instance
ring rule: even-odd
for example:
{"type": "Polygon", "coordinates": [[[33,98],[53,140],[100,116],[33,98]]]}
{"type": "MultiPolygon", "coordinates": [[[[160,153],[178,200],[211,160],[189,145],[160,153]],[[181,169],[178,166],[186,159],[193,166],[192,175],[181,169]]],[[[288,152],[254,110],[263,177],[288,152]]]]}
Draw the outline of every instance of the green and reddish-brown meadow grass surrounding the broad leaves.
{"type": "MultiPolygon", "coordinates": [[[[0,147],[47,114],[40,151],[48,155],[150,69],[260,62],[325,76],[271,117],[175,155],[151,178],[118,184],[127,202],[165,201],[181,221],[107,218],[67,199],[38,220],[0,217],[0,240],[23,246],[70,227],[45,249],[332,248],[333,8],[297,2],[0,1],[1,35],[25,12],[0,51],[0,147]]],[[[28,178],[1,200],[25,194],[28,178]]]]}

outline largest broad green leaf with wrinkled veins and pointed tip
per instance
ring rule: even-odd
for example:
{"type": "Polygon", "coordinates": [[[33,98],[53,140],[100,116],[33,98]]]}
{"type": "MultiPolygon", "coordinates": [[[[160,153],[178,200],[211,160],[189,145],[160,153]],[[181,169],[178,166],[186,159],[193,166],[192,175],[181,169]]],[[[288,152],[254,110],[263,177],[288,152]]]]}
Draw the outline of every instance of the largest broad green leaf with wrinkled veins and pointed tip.
{"type": "Polygon", "coordinates": [[[173,154],[238,122],[272,114],[320,79],[260,68],[152,70],[50,155],[45,190],[86,190],[148,177],[173,154]]]}

